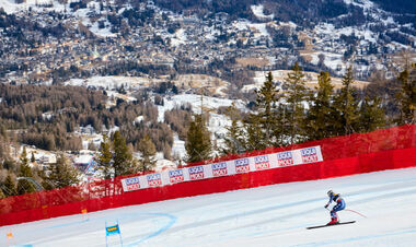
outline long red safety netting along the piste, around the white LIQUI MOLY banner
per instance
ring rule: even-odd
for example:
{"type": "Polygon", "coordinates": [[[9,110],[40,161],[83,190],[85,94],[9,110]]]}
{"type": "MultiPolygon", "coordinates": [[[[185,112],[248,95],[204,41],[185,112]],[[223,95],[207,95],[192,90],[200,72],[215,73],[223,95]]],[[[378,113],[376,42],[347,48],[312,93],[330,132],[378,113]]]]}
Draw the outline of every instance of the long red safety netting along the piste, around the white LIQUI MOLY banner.
{"type": "MultiPolygon", "coordinates": [[[[123,191],[120,179],[125,177],[117,177],[4,198],[0,200],[0,225],[288,181],[416,166],[416,125],[330,138],[285,148],[269,148],[189,165],[209,164],[314,145],[321,145],[323,162],[186,181],[130,192],[123,191]]],[[[131,176],[137,175],[129,177],[131,176]]]]}

